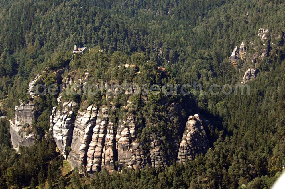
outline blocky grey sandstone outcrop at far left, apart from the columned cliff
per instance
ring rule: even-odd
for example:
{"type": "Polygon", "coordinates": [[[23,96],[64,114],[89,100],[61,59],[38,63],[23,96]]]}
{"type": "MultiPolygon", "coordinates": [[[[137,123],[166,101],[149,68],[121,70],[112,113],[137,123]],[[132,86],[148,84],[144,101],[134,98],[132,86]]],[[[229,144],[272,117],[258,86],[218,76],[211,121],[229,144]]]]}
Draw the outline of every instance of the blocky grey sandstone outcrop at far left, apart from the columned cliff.
{"type": "Polygon", "coordinates": [[[29,102],[21,103],[15,106],[14,121],[10,120],[10,135],[13,148],[19,149],[19,146],[29,147],[34,145],[35,135],[31,131],[31,125],[35,119],[34,105],[29,102]]]}

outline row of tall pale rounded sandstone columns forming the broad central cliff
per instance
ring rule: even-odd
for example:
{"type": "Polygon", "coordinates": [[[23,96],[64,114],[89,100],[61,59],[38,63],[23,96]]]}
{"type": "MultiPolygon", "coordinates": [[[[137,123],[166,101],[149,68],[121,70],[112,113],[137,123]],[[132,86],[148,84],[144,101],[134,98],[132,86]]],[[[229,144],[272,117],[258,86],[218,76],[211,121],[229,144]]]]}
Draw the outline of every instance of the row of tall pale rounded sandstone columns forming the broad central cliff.
{"type": "MultiPolygon", "coordinates": [[[[60,97],[58,102],[61,108],[54,107],[50,116],[52,135],[60,152],[72,168],[79,167],[80,170],[86,170],[92,177],[95,171],[101,169],[113,172],[120,171],[123,167],[141,169],[147,163],[154,167],[168,165],[169,157],[161,139],[150,135],[149,145],[144,144],[149,148],[143,149],[136,132],[142,125],[138,123],[135,114],[130,113],[131,102],[120,108],[127,116],[119,120],[111,118],[114,116],[112,112],[114,107],[105,105],[99,108],[94,105],[82,107],[74,117],[72,114],[76,103],[69,101],[62,103],[60,97]]],[[[181,111],[181,106],[173,103],[170,105],[170,110],[173,110],[168,114],[171,121],[171,117],[176,116],[175,111],[181,111]]],[[[178,149],[178,146],[177,144],[174,148],[178,149]]]]}

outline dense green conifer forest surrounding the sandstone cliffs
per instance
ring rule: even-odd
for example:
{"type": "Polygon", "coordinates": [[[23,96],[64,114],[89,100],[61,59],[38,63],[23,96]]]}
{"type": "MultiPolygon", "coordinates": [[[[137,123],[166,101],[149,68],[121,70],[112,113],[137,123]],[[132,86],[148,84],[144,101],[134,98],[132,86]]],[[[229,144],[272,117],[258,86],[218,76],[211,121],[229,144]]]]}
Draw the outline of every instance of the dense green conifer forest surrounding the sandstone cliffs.
{"type": "MultiPolygon", "coordinates": [[[[285,165],[284,1],[7,0],[0,7],[0,116],[6,116],[0,119],[0,188],[250,189],[270,188],[281,174],[285,165]],[[267,43],[258,36],[260,28],[269,30],[267,43]],[[231,52],[243,41],[258,64],[230,63],[231,52]],[[87,53],[72,56],[75,44],[87,47],[87,53]],[[258,57],[264,48],[266,55],[258,57]],[[140,66],[141,74],[117,67],[125,63],[140,66]],[[34,146],[16,153],[9,133],[14,106],[19,99],[31,99],[27,86],[38,73],[45,71],[42,82],[48,85],[56,79],[51,73],[66,65],[75,72],[87,69],[94,81],[159,85],[196,81],[203,92],[150,96],[142,112],[152,111],[155,121],[167,108],[165,99],[197,104],[214,125],[206,130],[211,147],[184,165],[170,162],[165,169],[147,166],[123,169],[120,174],[102,170],[92,179],[74,169],[68,180],[66,162],[48,134],[56,96],[46,94],[34,100],[39,116],[32,128],[40,137],[34,146]],[[259,73],[248,83],[250,95],[208,92],[212,84],[240,83],[245,71],[256,65],[259,73]],[[167,74],[158,77],[157,67],[167,74]]],[[[104,100],[64,94],[63,98],[90,104],[104,100]]],[[[123,98],[117,103],[123,103],[123,98]]],[[[142,108],[135,97],[133,102],[142,108]]],[[[156,129],[162,136],[175,137],[165,125],[156,129]]],[[[141,141],[146,141],[146,131],[139,132],[141,141]]],[[[171,145],[165,140],[167,149],[171,145]]]]}

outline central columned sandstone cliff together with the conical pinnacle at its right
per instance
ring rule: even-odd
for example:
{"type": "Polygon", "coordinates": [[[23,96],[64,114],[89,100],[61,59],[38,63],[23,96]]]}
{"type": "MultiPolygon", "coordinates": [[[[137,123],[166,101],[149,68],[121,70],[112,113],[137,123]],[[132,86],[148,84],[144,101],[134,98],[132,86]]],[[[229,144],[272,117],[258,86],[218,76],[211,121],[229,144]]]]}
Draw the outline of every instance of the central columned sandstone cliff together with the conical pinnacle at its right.
{"type": "MultiPolygon", "coordinates": [[[[86,73],[79,79],[70,76],[64,78],[64,90],[67,89],[67,84],[80,83],[84,91],[89,77],[91,76],[86,73]]],[[[107,89],[106,86],[105,90],[111,94],[116,91],[114,88],[107,89]]],[[[134,89],[130,88],[125,92],[127,99],[129,99],[130,91],[134,89]]],[[[115,97],[110,94],[106,95],[106,99],[113,98],[115,97]]],[[[141,98],[147,99],[147,96],[141,98]]],[[[203,124],[199,116],[196,116],[193,122],[197,123],[191,125],[191,131],[198,131],[200,134],[194,133],[192,138],[187,137],[186,140],[190,144],[187,147],[189,151],[180,150],[185,146],[184,143],[180,144],[185,123],[181,122],[181,115],[177,113],[182,110],[178,103],[169,104],[164,114],[165,121],[170,125],[169,133],[176,133],[174,139],[172,137],[168,139],[173,145],[172,153],[167,151],[162,137],[156,132],[147,133],[146,142],[141,142],[138,130],[156,128],[156,123],[151,119],[152,115],[149,115],[150,118],[140,118],[145,120],[140,122],[138,112],[134,111],[133,104],[129,100],[125,106],[120,107],[112,103],[101,104],[99,107],[94,104],[84,104],[87,102],[77,104],[74,101],[65,101],[62,96],[59,96],[58,106],[53,108],[50,123],[52,136],[60,153],[72,167],[78,167],[81,171],[85,170],[91,177],[95,171],[102,168],[113,172],[114,170],[120,171],[123,167],[140,169],[146,164],[165,167],[169,165],[170,160],[177,158],[178,151],[178,157],[184,159],[181,161],[184,163],[186,157],[194,157],[196,153],[203,153],[209,147],[203,124]],[[118,111],[123,116],[118,117],[116,115],[118,111]],[[178,126],[172,125],[174,118],[180,122],[178,126]]],[[[188,125],[186,128],[189,127],[188,125]]],[[[190,132],[189,129],[186,130],[187,133],[190,132]]]]}

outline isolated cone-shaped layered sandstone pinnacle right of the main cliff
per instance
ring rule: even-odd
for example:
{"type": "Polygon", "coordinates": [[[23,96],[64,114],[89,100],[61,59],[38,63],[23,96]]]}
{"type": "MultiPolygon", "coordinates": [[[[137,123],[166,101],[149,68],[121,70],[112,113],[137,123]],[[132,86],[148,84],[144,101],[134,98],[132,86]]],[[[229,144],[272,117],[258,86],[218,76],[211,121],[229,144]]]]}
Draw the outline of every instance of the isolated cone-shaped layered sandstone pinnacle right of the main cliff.
{"type": "Polygon", "coordinates": [[[188,118],[179,147],[178,163],[185,163],[186,159],[193,159],[196,154],[207,152],[209,141],[204,129],[206,124],[209,122],[200,114],[188,118]]]}

